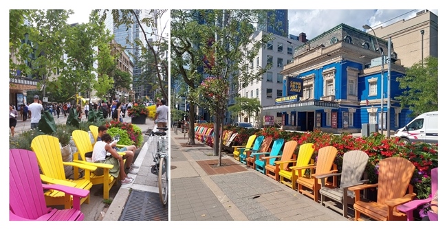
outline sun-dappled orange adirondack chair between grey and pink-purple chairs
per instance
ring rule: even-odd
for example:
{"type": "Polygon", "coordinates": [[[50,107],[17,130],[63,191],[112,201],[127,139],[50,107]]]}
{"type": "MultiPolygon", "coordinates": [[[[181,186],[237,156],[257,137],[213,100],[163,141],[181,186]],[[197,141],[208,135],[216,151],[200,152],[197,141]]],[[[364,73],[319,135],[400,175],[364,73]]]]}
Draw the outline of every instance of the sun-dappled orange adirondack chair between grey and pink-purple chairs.
{"type": "Polygon", "coordinates": [[[413,185],[410,184],[414,172],[415,165],[402,157],[389,157],[379,161],[378,183],[349,187],[356,194],[356,220],[362,220],[360,214],[374,220],[406,220],[406,215],[398,211],[397,206],[416,196],[413,185]],[[377,202],[360,200],[360,190],[370,187],[378,188],[377,202]]]}

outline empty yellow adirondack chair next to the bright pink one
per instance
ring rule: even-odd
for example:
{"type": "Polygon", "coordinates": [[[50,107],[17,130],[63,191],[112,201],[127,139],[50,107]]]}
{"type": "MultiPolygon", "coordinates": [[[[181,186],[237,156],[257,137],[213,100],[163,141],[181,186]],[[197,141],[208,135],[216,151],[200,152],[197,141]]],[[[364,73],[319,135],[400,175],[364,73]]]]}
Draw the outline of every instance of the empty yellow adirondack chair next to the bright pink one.
{"type": "MultiPolygon", "coordinates": [[[[90,172],[96,170],[96,167],[82,163],[63,162],[61,146],[59,145],[59,139],[57,137],[49,135],[34,137],[31,141],[31,149],[36,153],[37,161],[39,161],[39,167],[42,171],[41,180],[43,182],[90,190],[92,186],[90,172]],[[64,165],[71,165],[76,169],[81,168],[85,170],[84,178],[76,180],[67,179],[65,177],[64,165]]],[[[64,205],[65,209],[69,209],[73,205],[71,196],[65,196],[64,192],[52,189],[45,192],[45,202],[47,205],[64,205]]],[[[90,195],[81,198],[80,204],[82,203],[90,203],[90,195]]]]}

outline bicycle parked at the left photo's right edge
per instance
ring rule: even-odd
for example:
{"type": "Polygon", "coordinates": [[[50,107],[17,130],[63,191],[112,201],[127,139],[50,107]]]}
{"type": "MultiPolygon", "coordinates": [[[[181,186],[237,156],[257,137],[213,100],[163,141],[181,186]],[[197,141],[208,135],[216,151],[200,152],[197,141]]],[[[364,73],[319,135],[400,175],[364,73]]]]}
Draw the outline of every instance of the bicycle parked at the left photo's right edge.
{"type": "MultiPolygon", "coordinates": [[[[154,127],[154,129],[157,127],[154,127]]],[[[157,148],[152,151],[153,162],[151,173],[158,175],[157,183],[158,190],[160,194],[160,200],[163,205],[168,203],[168,181],[169,181],[169,168],[168,168],[168,137],[166,136],[167,127],[157,128],[159,131],[151,131],[151,133],[146,133],[149,135],[149,146],[154,140],[157,141],[157,148]]],[[[151,148],[148,148],[148,152],[151,148]]]]}

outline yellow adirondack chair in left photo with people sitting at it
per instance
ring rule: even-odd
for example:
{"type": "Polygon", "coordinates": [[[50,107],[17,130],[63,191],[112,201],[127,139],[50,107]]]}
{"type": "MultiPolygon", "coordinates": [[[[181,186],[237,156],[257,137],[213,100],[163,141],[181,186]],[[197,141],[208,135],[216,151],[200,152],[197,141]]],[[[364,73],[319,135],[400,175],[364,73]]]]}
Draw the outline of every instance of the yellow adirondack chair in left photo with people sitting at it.
{"type": "MultiPolygon", "coordinates": [[[[84,130],[74,130],[72,133],[73,141],[76,144],[76,148],[78,148],[78,152],[73,154],[73,159],[78,159],[78,154],[82,160],[73,160],[74,162],[83,163],[85,165],[92,165],[98,168],[104,169],[104,174],[102,176],[96,176],[92,170],[90,173],[90,181],[93,185],[103,185],[103,198],[109,199],[109,191],[115,183],[118,185],[118,180],[113,176],[109,175],[109,170],[113,168],[113,165],[109,165],[107,163],[94,163],[85,160],[85,153],[93,151],[93,146],[91,146],[89,133],[84,130]]],[[[118,152],[118,154],[124,156],[124,152],[118,152]]],[[[125,160],[124,160],[125,162],[125,160]]],[[[77,175],[76,168],[74,169],[74,174],[77,175]]],[[[87,173],[86,173],[87,174],[87,173]]]]}

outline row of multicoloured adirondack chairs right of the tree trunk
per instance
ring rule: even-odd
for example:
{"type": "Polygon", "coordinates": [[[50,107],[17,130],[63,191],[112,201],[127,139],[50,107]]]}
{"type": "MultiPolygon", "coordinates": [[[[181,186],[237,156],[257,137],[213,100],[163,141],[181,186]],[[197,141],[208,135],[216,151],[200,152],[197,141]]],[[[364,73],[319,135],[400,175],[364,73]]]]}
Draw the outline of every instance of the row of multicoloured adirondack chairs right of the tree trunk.
{"type": "MultiPolygon", "coordinates": [[[[293,140],[284,143],[284,139],[276,139],[270,148],[271,143],[271,137],[252,135],[246,146],[233,146],[234,158],[323,206],[334,208],[328,205],[327,200],[340,203],[342,208],[335,209],[345,217],[348,204],[351,204],[355,220],[361,220],[360,214],[375,220],[413,220],[413,210],[431,200],[413,200],[416,194],[410,180],[415,165],[404,158],[382,159],[378,183],[371,185],[367,184],[368,180],[362,180],[369,161],[366,152],[353,150],[342,154],[342,169],[338,172],[334,163],[338,150],[333,146],[320,148],[314,163],[313,143],[298,146],[293,140]],[[298,153],[294,154],[296,150],[298,153]],[[370,188],[377,188],[377,201],[365,200],[360,196],[361,191],[370,188]]],[[[432,194],[437,191],[437,168],[432,170],[431,189],[432,194]]]]}

